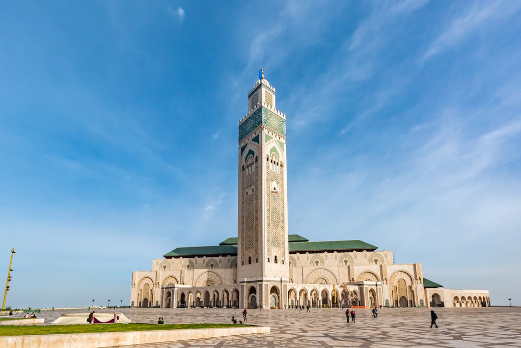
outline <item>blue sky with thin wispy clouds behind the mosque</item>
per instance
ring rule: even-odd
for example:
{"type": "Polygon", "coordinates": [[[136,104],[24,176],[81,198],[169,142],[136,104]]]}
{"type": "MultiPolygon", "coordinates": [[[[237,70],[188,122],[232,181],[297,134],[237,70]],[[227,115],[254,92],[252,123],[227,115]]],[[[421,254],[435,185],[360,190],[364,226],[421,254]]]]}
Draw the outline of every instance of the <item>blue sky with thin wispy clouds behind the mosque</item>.
{"type": "Polygon", "coordinates": [[[128,304],[132,270],[237,235],[261,64],[287,115],[290,233],[521,304],[520,18],[517,1],[0,1],[7,305],[128,304]]]}

